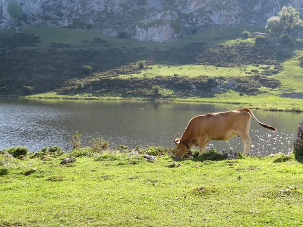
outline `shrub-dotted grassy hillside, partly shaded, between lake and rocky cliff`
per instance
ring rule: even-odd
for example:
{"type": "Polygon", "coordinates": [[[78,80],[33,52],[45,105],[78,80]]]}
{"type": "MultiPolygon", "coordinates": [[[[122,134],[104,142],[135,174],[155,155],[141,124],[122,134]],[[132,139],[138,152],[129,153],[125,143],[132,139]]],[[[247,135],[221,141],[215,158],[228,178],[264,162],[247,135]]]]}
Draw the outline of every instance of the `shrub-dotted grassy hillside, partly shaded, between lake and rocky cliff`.
{"type": "Polygon", "coordinates": [[[242,38],[243,30],[264,32],[217,27],[166,44],[64,28],[2,32],[0,95],[194,100],[302,111],[302,100],[278,97],[302,91],[302,41],[257,43],[242,38]]]}

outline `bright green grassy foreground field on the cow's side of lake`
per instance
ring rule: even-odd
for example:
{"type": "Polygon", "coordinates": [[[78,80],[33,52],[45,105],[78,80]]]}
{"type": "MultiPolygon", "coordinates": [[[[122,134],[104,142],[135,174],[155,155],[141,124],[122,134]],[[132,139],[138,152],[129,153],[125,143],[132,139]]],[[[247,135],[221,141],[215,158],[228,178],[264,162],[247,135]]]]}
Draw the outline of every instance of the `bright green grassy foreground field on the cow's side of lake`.
{"type": "Polygon", "coordinates": [[[61,159],[0,155],[0,225],[303,225],[299,154],[148,162],[105,152],[70,164],[61,159]]]}

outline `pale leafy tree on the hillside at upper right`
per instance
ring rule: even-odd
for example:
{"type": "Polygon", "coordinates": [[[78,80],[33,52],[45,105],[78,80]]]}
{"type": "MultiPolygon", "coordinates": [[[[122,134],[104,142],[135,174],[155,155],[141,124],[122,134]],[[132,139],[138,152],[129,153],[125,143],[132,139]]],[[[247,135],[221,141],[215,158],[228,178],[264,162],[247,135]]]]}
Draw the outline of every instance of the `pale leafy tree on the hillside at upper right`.
{"type": "Polygon", "coordinates": [[[296,25],[303,25],[300,19],[300,13],[292,6],[283,6],[277,16],[271,17],[267,20],[266,30],[270,34],[289,34],[292,27],[296,25]]]}

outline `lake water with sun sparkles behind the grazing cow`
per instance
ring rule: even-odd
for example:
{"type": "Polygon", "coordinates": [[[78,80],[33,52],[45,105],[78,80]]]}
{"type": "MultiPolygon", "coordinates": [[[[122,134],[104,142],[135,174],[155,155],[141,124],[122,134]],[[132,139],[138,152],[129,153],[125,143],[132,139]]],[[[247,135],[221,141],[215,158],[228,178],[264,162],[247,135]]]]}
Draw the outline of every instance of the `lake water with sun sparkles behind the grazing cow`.
{"type": "MultiPolygon", "coordinates": [[[[237,109],[238,105],[158,103],[138,101],[37,100],[0,98],[0,150],[26,146],[38,151],[45,146],[61,146],[70,151],[69,141],[78,131],[82,145],[102,137],[111,146],[130,148],[174,147],[189,120],[208,112],[237,109]]],[[[253,110],[259,121],[277,128],[272,132],[251,119],[251,155],[289,153],[293,147],[302,113],[253,110]]],[[[219,151],[243,151],[242,140],[211,141],[219,151]]]]}

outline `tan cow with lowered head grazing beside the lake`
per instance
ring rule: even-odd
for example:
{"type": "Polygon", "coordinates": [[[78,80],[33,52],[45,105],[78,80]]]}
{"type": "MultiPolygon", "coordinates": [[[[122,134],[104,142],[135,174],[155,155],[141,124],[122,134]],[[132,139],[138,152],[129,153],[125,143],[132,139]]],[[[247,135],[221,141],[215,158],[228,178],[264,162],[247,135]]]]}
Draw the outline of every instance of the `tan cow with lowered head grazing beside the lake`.
{"type": "Polygon", "coordinates": [[[175,139],[175,156],[182,158],[190,152],[192,145],[199,146],[199,155],[205,153],[207,143],[211,140],[229,140],[235,135],[242,138],[243,155],[249,155],[250,116],[252,116],[264,128],[276,131],[276,128],[258,121],[254,113],[248,108],[231,110],[228,112],[207,113],[191,119],[181,138],[175,139]]]}

